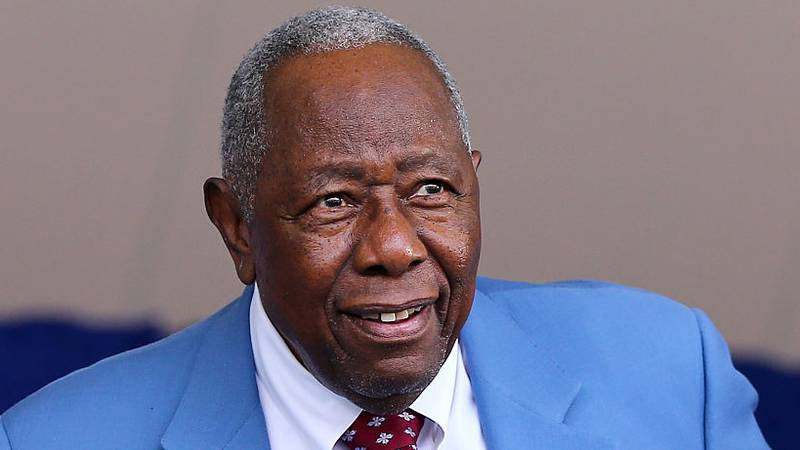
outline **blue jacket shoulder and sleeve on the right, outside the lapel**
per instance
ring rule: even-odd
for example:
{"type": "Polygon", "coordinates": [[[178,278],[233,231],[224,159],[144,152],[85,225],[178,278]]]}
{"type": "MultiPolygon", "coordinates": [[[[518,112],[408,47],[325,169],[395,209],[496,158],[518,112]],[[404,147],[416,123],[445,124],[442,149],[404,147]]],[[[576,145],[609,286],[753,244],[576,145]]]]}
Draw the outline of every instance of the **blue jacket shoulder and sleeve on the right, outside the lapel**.
{"type": "Polygon", "coordinates": [[[482,279],[478,291],[485,297],[476,302],[526,332],[518,345],[538,347],[580,380],[567,423],[616,430],[625,448],[661,448],[667,439],[674,448],[768,448],[753,418],[757,395],[699,309],[599,281],[482,279]],[[665,424],[669,438],[659,431],[665,424]]]}

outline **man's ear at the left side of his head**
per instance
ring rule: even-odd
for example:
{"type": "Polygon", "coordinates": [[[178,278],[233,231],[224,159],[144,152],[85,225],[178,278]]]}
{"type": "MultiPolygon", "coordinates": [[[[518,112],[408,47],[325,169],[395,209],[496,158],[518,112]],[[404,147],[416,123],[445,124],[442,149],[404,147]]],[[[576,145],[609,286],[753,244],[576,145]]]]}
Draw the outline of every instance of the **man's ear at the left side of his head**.
{"type": "Polygon", "coordinates": [[[250,246],[250,229],[242,217],[239,200],[222,178],[206,180],[203,194],[208,218],[222,235],[222,241],[233,258],[236,274],[242,283],[253,283],[256,270],[250,246]]]}

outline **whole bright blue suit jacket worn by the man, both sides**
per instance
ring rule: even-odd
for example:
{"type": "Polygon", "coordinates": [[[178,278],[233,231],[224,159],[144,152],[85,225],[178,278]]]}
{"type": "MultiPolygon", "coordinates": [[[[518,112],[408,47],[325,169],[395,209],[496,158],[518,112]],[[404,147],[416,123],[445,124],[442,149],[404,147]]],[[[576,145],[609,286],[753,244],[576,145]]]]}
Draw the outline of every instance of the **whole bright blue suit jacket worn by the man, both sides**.
{"type": "MultiPolygon", "coordinates": [[[[23,400],[0,450],[268,448],[251,294],[23,400]]],[[[482,278],[460,342],[490,449],[767,448],[723,339],[664,297],[482,278]]]]}

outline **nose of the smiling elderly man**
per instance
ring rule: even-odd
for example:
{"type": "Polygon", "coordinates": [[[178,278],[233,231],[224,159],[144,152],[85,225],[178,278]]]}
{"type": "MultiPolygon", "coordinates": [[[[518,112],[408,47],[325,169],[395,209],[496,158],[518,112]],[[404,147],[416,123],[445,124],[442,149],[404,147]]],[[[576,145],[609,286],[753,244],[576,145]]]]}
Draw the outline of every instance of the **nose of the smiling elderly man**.
{"type": "Polygon", "coordinates": [[[428,258],[417,231],[398,205],[380,205],[364,217],[355,269],[367,275],[399,276],[428,258]]]}

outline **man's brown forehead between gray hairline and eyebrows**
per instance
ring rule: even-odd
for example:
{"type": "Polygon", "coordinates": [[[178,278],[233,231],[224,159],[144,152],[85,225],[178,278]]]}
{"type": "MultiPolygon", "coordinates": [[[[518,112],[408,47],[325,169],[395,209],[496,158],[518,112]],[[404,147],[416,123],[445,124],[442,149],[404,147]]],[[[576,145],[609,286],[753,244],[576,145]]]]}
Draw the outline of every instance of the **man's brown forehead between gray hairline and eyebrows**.
{"type": "Polygon", "coordinates": [[[271,153],[291,151],[284,157],[325,148],[465,150],[438,72],[407,47],[373,44],[289,58],[265,78],[264,106],[271,153]]]}

